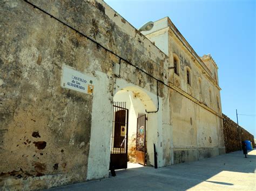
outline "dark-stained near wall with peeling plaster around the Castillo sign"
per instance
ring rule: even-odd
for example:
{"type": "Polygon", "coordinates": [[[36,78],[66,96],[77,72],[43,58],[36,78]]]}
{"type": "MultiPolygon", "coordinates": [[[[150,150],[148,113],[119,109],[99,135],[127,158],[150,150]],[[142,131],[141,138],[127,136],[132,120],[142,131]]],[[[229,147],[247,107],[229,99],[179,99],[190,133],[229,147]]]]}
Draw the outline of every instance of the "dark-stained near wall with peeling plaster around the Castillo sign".
{"type": "MultiPolygon", "coordinates": [[[[116,12],[104,2],[30,3],[35,8],[24,1],[6,1],[2,7],[1,186],[36,189],[105,178],[118,56],[125,86],[152,92],[154,103],[156,79],[167,82],[169,75],[167,56],[122,18],[114,23],[105,13],[116,12]],[[60,87],[63,65],[93,77],[93,96],[60,87]]],[[[166,90],[159,84],[159,96],[166,90]]],[[[163,166],[157,137],[163,134],[162,121],[154,121],[161,112],[149,116],[159,127],[152,129],[152,142],[157,140],[163,166]]]]}

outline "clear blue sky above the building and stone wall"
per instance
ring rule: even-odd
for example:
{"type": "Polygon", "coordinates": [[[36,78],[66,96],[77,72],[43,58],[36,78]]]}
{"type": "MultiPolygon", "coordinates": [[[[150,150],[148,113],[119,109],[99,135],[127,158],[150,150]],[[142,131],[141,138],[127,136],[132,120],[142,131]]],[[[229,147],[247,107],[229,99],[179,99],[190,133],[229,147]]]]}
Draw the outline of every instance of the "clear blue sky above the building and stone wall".
{"type": "Polygon", "coordinates": [[[199,56],[210,53],[219,67],[223,113],[254,134],[256,1],[105,0],[134,27],[170,17],[199,56]]]}

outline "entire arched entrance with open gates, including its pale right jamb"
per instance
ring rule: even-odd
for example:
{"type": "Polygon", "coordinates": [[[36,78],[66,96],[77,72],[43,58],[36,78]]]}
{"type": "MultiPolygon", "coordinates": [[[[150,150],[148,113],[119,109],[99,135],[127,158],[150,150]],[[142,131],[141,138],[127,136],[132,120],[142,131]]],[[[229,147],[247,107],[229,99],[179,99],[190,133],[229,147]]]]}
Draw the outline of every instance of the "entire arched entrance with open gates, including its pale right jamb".
{"type": "Polygon", "coordinates": [[[114,169],[127,168],[127,161],[152,164],[157,115],[147,112],[157,110],[154,103],[157,96],[149,94],[140,87],[127,86],[119,87],[113,97],[111,165],[114,169]],[[151,123],[147,121],[149,117],[151,123]]]}

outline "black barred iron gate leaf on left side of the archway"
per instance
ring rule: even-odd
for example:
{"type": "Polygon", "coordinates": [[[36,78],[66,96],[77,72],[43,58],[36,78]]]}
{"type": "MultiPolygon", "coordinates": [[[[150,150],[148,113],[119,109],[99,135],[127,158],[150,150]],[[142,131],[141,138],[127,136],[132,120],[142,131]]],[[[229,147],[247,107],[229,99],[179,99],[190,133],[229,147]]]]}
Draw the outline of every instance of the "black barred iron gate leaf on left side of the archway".
{"type": "Polygon", "coordinates": [[[127,168],[129,110],[125,107],[125,102],[113,102],[110,165],[114,169],[127,168]]]}

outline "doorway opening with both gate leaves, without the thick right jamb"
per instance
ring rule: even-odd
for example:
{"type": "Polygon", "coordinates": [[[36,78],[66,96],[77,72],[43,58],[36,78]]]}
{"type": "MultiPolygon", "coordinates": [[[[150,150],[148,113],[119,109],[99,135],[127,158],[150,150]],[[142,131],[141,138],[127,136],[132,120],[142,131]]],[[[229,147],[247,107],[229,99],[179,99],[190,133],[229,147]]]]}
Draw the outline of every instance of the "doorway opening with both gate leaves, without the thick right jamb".
{"type": "Polygon", "coordinates": [[[146,120],[139,93],[122,89],[114,95],[110,156],[114,169],[147,164],[146,120]]]}

